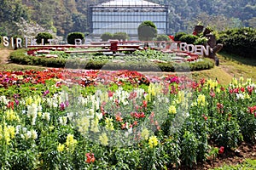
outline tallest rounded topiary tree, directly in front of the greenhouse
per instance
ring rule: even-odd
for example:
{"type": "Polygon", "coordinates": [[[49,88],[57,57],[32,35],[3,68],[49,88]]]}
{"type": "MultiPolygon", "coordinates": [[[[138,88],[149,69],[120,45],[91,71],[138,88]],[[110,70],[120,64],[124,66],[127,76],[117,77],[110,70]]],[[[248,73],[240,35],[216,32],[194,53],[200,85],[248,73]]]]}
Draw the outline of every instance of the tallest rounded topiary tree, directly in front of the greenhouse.
{"type": "Polygon", "coordinates": [[[137,35],[141,41],[150,41],[157,36],[157,29],[150,20],[143,21],[137,28],[137,35]]]}

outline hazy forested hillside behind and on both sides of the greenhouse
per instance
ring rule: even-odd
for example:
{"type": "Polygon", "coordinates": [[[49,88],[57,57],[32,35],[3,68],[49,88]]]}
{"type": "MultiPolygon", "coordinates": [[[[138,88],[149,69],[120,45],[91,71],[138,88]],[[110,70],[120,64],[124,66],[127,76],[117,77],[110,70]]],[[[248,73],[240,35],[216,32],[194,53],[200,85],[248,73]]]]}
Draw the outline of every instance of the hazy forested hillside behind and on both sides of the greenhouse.
{"type": "MultiPolygon", "coordinates": [[[[256,0],[148,0],[169,7],[170,34],[191,32],[196,24],[221,31],[256,27],[256,0]]],[[[88,33],[88,6],[106,0],[0,0],[0,36],[20,35],[32,27],[59,37],[69,32],[88,33]]]]}

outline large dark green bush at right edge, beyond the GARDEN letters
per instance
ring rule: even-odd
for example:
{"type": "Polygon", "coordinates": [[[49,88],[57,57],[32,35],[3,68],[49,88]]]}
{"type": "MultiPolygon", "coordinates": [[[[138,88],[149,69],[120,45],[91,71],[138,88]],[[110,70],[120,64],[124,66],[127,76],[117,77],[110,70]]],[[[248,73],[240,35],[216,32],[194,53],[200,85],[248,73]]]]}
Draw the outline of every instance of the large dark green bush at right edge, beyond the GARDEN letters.
{"type": "Polygon", "coordinates": [[[254,57],[256,51],[256,29],[236,28],[219,32],[218,42],[224,44],[223,50],[243,57],[254,57]]]}

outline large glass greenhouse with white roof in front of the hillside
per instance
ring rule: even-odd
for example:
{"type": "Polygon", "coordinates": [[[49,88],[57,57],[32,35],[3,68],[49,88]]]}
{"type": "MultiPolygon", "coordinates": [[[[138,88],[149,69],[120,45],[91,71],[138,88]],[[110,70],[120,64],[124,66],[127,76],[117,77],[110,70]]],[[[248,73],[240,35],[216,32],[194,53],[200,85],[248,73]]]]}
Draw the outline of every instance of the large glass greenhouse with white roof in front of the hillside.
{"type": "Polygon", "coordinates": [[[140,0],[113,0],[108,3],[90,5],[90,33],[126,32],[137,37],[137,27],[145,20],[151,20],[159,34],[168,32],[168,7],[140,0]]]}

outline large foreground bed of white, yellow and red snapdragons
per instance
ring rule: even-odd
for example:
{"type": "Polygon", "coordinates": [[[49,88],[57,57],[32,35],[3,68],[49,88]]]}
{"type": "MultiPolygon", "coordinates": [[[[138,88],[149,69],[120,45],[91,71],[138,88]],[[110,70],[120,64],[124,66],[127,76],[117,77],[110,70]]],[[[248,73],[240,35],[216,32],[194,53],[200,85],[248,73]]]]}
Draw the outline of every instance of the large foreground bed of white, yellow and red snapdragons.
{"type": "Polygon", "coordinates": [[[0,167],[191,167],[255,142],[255,86],[137,71],[3,71],[0,167]]]}

